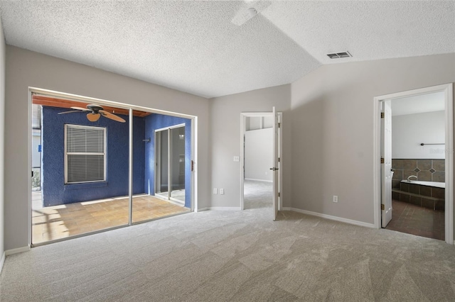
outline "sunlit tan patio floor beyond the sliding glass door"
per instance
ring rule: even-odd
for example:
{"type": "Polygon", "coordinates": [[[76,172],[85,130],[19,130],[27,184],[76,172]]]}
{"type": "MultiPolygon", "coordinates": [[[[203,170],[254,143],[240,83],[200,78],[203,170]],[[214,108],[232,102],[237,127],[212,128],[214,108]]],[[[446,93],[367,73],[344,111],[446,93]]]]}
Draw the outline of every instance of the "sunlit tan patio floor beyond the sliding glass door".
{"type": "MultiPolygon", "coordinates": [[[[190,209],[154,196],[133,196],[133,223],[186,212],[190,209]]],[[[43,207],[41,192],[32,192],[32,244],[127,224],[128,197],[43,207]]]]}

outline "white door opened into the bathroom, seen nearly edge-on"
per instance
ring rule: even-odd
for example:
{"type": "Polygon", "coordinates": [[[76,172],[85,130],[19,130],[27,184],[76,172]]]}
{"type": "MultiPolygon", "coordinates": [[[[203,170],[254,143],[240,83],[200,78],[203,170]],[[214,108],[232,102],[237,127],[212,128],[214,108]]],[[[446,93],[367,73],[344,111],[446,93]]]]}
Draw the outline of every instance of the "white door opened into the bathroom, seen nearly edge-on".
{"type": "Polygon", "coordinates": [[[381,209],[382,228],[392,220],[392,108],[390,100],[383,101],[384,118],[381,118],[382,146],[381,146],[381,209]]]}

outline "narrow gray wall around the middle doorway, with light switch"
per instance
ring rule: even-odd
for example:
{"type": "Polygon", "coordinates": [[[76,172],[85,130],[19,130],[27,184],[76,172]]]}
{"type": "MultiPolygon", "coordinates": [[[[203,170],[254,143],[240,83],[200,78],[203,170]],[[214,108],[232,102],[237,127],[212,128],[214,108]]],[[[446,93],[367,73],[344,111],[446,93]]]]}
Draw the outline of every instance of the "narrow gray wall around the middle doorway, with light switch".
{"type": "Polygon", "coordinates": [[[210,99],[210,166],[212,188],[225,189],[224,195],[212,195],[213,207],[240,207],[240,113],[271,112],[275,106],[283,112],[283,206],[290,206],[291,195],[291,85],[232,94],[210,99]]]}

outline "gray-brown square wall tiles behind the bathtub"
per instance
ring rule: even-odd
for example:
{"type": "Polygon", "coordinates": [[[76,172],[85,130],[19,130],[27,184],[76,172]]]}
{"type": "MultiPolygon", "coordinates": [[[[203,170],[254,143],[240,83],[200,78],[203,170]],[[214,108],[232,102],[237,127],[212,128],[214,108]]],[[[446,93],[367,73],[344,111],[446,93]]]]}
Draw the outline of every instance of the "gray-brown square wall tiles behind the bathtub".
{"type": "MultiPolygon", "coordinates": [[[[420,181],[446,181],[445,160],[392,160],[392,169],[395,169],[392,179],[392,188],[400,188],[400,181],[411,175],[417,176],[420,181]]],[[[412,180],[415,180],[413,178],[412,180]]]]}

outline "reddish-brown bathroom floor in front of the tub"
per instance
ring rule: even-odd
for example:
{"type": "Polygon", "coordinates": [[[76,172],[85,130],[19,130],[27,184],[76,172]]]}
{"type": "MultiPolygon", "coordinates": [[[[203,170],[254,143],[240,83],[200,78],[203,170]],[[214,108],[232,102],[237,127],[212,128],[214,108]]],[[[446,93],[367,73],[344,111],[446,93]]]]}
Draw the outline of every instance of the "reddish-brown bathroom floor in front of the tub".
{"type": "Polygon", "coordinates": [[[387,230],[444,240],[444,211],[392,200],[392,220],[387,230]]]}

